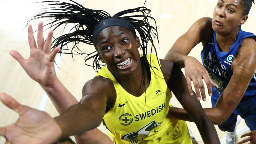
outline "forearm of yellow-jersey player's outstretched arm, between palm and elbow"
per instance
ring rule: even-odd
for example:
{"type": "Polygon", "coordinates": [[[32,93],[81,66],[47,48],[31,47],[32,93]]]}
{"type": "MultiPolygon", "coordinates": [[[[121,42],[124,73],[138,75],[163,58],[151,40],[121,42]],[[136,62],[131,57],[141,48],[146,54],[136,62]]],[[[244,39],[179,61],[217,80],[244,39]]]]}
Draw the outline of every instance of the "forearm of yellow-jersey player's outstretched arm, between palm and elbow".
{"type": "Polygon", "coordinates": [[[65,138],[97,128],[103,116],[104,112],[78,103],[54,119],[62,130],[60,138],[65,138]]]}

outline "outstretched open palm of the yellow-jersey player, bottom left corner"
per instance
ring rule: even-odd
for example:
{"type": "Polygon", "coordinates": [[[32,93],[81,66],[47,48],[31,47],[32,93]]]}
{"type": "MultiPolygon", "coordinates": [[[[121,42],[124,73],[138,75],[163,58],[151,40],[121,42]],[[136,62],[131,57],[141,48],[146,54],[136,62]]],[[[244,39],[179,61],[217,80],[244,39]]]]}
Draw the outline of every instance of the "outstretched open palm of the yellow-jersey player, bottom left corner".
{"type": "Polygon", "coordinates": [[[61,135],[57,122],[47,113],[19,104],[11,96],[1,93],[4,105],[19,114],[18,120],[6,127],[0,127],[0,136],[11,144],[52,144],[61,135]]]}

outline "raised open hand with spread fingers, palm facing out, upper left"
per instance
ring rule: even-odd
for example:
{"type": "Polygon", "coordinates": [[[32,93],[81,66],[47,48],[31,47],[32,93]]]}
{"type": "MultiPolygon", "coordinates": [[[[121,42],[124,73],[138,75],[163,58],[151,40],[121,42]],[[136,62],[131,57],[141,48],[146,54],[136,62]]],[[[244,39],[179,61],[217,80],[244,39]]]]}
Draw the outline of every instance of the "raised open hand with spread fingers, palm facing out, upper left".
{"type": "Polygon", "coordinates": [[[27,74],[38,83],[46,86],[51,85],[57,78],[54,70],[54,59],[59,51],[56,47],[51,52],[53,31],[48,34],[46,41],[43,37],[43,22],[38,24],[37,45],[34,39],[32,26],[28,26],[28,42],[30,46],[30,56],[24,59],[17,51],[11,50],[10,54],[14,57],[27,74]]]}

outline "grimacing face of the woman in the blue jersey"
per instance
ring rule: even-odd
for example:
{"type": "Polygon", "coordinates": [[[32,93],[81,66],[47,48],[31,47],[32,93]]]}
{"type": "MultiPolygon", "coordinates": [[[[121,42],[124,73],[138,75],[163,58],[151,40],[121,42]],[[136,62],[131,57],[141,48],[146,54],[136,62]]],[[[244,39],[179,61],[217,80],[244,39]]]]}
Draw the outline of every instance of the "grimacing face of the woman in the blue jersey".
{"type": "Polygon", "coordinates": [[[243,11],[240,0],[219,0],[213,12],[213,30],[223,35],[239,30],[239,26],[247,20],[243,11]]]}

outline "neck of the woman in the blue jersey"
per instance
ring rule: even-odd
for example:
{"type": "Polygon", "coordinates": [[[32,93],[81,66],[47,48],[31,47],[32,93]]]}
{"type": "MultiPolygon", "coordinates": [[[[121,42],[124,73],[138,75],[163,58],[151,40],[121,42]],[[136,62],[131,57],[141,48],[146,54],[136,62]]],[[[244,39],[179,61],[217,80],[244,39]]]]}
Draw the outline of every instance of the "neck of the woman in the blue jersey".
{"type": "Polygon", "coordinates": [[[216,41],[219,46],[219,50],[222,52],[229,51],[229,48],[236,41],[239,29],[226,35],[216,33],[216,41]]]}

